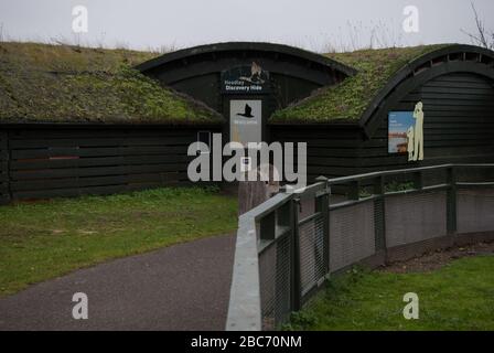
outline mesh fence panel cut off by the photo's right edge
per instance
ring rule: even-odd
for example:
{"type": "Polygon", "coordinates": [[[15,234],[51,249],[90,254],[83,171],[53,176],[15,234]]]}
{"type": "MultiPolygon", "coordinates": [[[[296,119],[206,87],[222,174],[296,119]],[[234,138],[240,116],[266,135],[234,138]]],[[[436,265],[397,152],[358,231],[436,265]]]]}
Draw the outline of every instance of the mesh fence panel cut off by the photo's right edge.
{"type": "Polygon", "coordinates": [[[494,189],[460,189],[457,194],[458,233],[494,229],[494,189]]]}

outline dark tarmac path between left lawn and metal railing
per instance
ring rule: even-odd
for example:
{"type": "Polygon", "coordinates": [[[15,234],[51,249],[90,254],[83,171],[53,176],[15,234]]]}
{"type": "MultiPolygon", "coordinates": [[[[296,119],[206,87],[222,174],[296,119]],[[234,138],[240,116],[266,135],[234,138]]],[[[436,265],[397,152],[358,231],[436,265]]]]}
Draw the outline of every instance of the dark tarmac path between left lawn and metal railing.
{"type": "Polygon", "coordinates": [[[224,330],[235,237],[180,244],[77,270],[0,299],[0,330],[224,330]],[[88,320],[74,320],[74,292],[88,320]]]}

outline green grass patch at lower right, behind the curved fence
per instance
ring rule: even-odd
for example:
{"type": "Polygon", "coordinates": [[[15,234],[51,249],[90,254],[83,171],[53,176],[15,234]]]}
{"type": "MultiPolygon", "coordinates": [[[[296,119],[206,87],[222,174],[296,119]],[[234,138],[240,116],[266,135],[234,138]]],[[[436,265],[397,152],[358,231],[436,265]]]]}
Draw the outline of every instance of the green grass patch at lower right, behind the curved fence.
{"type": "Polygon", "coordinates": [[[430,272],[353,269],[335,277],[284,329],[494,330],[494,256],[462,258],[430,272]],[[406,320],[404,295],[419,296],[406,320]]]}

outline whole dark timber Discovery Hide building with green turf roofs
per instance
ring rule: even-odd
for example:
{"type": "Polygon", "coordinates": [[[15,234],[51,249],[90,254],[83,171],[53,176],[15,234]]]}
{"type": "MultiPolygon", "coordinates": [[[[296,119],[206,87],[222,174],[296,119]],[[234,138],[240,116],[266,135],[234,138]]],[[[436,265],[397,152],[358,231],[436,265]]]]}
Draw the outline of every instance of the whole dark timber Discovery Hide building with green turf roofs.
{"type": "Polygon", "coordinates": [[[240,42],[155,56],[1,43],[0,200],[186,183],[189,145],[214,132],[307,142],[309,181],[494,161],[492,51],[240,42]]]}

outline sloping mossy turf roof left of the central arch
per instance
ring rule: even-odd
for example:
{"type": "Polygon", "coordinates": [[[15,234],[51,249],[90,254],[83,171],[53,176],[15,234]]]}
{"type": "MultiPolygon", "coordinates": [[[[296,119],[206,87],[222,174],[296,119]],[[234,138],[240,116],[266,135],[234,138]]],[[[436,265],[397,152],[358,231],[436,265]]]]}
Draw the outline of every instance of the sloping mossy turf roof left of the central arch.
{"type": "Polygon", "coordinates": [[[131,68],[157,54],[0,43],[0,122],[207,124],[222,118],[131,68]]]}

